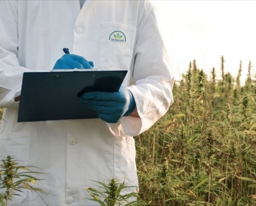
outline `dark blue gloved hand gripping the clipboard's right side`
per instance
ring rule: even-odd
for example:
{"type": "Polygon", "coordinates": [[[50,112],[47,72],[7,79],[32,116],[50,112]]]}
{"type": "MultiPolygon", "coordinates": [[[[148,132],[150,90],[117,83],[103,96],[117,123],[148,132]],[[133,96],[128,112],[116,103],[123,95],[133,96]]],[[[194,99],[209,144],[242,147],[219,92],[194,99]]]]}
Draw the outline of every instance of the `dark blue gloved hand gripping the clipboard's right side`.
{"type": "Polygon", "coordinates": [[[122,116],[130,115],[136,107],[132,93],[122,86],[118,92],[85,92],[78,100],[96,111],[99,118],[107,123],[117,123],[122,116]]]}

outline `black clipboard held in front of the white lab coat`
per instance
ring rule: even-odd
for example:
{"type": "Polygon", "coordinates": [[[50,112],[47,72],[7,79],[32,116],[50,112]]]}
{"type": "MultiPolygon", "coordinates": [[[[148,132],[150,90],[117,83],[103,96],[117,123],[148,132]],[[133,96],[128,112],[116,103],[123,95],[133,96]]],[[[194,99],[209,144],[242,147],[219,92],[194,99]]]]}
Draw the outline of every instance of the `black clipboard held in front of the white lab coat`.
{"type": "Polygon", "coordinates": [[[84,92],[117,92],[126,74],[126,70],[25,72],[18,122],[98,118],[78,97],[84,92]]]}

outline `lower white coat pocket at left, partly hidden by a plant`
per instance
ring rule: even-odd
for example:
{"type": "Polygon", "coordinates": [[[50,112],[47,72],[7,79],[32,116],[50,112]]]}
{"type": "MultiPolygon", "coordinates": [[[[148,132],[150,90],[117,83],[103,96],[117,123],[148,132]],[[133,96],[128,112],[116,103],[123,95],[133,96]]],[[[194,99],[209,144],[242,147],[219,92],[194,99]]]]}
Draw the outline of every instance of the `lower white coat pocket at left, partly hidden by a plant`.
{"type": "MultiPolygon", "coordinates": [[[[8,133],[0,135],[0,159],[7,156],[13,157],[14,161],[18,163],[17,166],[27,166],[28,162],[28,138],[27,133],[8,133]]],[[[1,162],[2,164],[2,162],[1,162]]],[[[17,179],[14,181],[17,181],[17,179]]],[[[2,183],[2,182],[1,182],[2,183]]],[[[21,185],[23,186],[23,185],[21,185]]],[[[5,188],[0,190],[4,192],[5,188]]],[[[15,191],[18,195],[12,195],[12,201],[9,200],[10,205],[19,205],[26,198],[26,190],[23,192],[15,191]]],[[[9,205],[8,204],[8,205],[9,205]]]]}

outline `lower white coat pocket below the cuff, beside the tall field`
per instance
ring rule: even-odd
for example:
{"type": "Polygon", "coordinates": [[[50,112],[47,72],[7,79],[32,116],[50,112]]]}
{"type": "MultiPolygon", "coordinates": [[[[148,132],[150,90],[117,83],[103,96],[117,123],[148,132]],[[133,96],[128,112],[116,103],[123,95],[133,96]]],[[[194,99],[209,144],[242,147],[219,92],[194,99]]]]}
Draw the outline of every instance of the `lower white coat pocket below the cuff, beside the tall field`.
{"type": "Polygon", "coordinates": [[[115,136],[114,140],[114,176],[120,182],[125,180],[127,191],[138,191],[137,168],[135,165],[135,144],[132,137],[115,136]]]}

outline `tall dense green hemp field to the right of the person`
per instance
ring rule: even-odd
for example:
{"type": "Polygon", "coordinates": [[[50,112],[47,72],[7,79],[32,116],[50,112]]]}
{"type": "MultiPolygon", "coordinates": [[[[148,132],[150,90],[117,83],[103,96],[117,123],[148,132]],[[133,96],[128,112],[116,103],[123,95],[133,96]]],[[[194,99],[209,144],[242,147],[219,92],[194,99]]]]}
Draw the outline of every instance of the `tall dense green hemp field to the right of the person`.
{"type": "Polygon", "coordinates": [[[168,113],[134,137],[148,205],[256,205],[255,74],[249,62],[242,85],[241,65],[233,77],[222,57],[217,78],[190,63],[168,113]]]}

